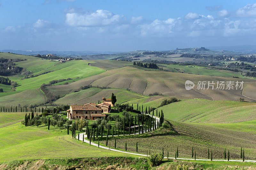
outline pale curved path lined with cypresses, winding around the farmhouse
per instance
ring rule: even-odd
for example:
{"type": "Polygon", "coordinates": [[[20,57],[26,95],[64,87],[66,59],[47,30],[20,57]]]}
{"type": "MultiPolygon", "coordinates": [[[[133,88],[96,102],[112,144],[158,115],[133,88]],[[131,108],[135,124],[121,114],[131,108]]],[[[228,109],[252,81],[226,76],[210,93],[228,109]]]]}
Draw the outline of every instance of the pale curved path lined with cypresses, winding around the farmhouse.
{"type": "MultiPolygon", "coordinates": [[[[149,115],[149,114],[147,114],[147,115],[149,115]]],[[[152,116],[152,115],[150,115],[150,116],[152,116]]],[[[153,118],[156,118],[156,122],[160,121],[159,117],[153,116],[153,118]]],[[[152,127],[152,129],[153,129],[153,127],[152,127]]],[[[85,132],[79,134],[79,139],[83,139],[83,134],[85,134],[85,132]]],[[[137,134],[139,134],[139,133],[136,133],[136,135],[137,134]]],[[[131,135],[134,135],[134,133],[131,134],[131,135]]],[[[110,135],[109,137],[111,137],[111,136],[112,135],[110,135]]],[[[114,136],[117,136],[117,135],[114,135],[114,136]]],[[[106,136],[104,136],[104,137],[106,137],[106,136]]],[[[76,135],[76,138],[78,139],[78,135],[76,135]]],[[[84,138],[84,142],[90,144],[90,141],[85,139],[85,138],[84,138]]],[[[148,155],[144,155],[144,154],[140,154],[140,153],[132,153],[132,152],[120,151],[120,150],[112,149],[112,148],[109,148],[109,147],[106,147],[106,146],[101,146],[101,145],[98,146],[98,144],[93,143],[92,141],[91,141],[91,145],[96,146],[96,147],[100,147],[100,148],[103,148],[103,149],[108,149],[108,150],[111,150],[111,151],[116,151],[116,152],[128,153],[128,154],[138,155],[138,156],[146,156],[146,157],[148,156],[148,155]]],[[[164,158],[167,158],[167,157],[164,157],[164,158]]],[[[175,158],[168,157],[168,159],[175,159],[175,158]]],[[[189,159],[189,158],[176,158],[176,159],[195,160],[195,159],[189,159]]],[[[209,161],[210,159],[196,159],[196,160],[208,160],[209,161]]],[[[228,161],[228,160],[226,160],[226,159],[212,159],[212,161],[228,161]]],[[[232,162],[243,162],[243,160],[229,160],[229,161],[230,162],[231,161],[232,162]]],[[[244,162],[256,162],[256,160],[244,160],[244,162]]]]}

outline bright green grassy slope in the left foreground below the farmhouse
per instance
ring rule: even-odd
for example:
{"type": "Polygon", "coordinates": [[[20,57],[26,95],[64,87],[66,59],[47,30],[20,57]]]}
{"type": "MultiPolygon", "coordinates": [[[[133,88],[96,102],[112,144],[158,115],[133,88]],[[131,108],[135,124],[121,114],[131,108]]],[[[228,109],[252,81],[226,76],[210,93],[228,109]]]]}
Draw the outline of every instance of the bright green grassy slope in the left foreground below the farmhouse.
{"type": "MultiPolygon", "coordinates": [[[[3,112],[2,112],[3,114],[3,112]]],[[[8,113],[15,119],[24,117],[25,113],[8,113]]],[[[0,117],[1,122],[8,123],[0,117]]],[[[0,162],[23,159],[52,159],[52,158],[81,158],[81,157],[104,157],[104,156],[132,156],[120,152],[100,149],[89,144],[72,139],[67,135],[67,130],[59,127],[42,124],[39,127],[27,126],[21,123],[0,127],[0,162]],[[26,148],[26,149],[25,149],[26,148]]],[[[135,156],[136,157],[136,156],[135,156]]]]}

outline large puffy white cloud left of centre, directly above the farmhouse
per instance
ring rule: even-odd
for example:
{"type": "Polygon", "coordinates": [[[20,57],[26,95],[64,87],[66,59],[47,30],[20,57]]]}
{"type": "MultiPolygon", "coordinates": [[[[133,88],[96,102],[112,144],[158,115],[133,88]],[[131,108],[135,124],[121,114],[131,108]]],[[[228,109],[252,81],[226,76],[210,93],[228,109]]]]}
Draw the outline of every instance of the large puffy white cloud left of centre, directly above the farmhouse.
{"type": "Polygon", "coordinates": [[[122,23],[125,20],[123,15],[115,15],[110,11],[97,10],[92,13],[78,14],[67,13],[66,23],[70,26],[104,26],[122,23]]]}

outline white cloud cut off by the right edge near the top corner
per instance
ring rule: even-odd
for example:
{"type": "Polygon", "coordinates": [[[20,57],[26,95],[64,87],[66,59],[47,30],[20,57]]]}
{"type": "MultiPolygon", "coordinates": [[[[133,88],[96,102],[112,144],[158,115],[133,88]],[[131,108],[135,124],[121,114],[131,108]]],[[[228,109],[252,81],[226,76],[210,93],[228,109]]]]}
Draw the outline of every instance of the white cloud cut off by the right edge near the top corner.
{"type": "Polygon", "coordinates": [[[256,3],[254,4],[247,4],[243,8],[239,8],[236,11],[237,17],[256,17],[256,3]]]}

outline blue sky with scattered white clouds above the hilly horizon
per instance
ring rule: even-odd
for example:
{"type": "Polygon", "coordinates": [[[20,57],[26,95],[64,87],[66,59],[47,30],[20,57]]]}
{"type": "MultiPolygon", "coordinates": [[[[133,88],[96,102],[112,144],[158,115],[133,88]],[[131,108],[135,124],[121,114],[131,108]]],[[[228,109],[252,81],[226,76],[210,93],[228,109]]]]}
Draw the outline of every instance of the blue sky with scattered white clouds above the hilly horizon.
{"type": "Polygon", "coordinates": [[[256,45],[251,0],[0,0],[0,49],[171,50],[256,45]]]}

